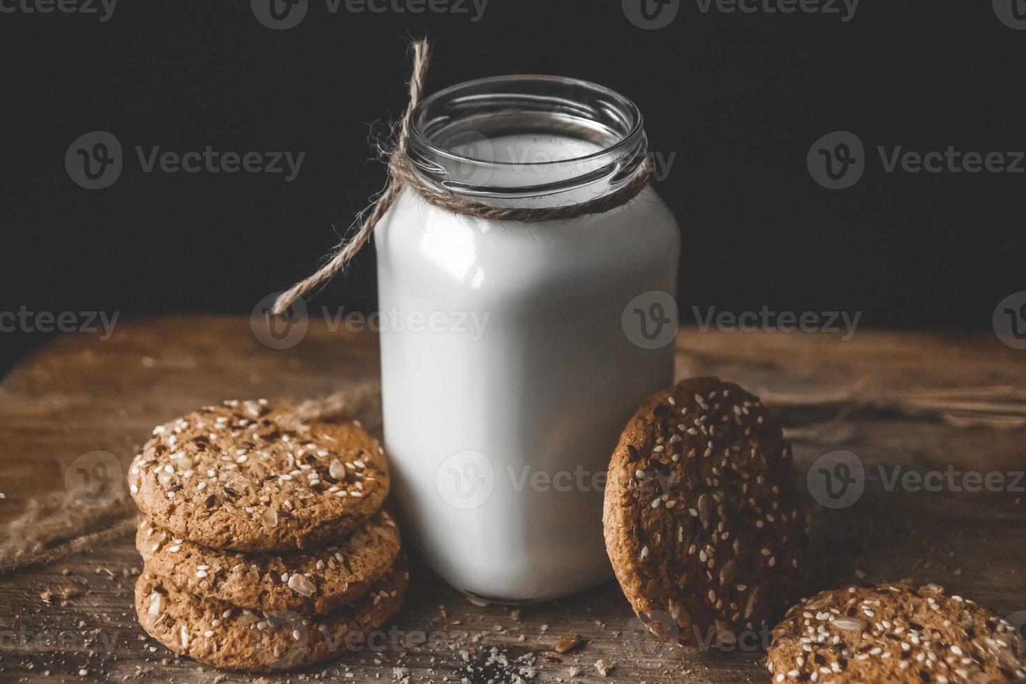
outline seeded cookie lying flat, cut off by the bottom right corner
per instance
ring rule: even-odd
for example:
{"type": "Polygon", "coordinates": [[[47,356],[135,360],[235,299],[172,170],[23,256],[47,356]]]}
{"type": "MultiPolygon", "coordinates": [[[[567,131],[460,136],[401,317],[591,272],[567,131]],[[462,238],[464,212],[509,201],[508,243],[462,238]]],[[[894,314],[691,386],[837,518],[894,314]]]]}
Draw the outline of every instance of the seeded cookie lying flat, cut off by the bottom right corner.
{"type": "Polygon", "coordinates": [[[775,682],[1026,680],[1016,629],[938,585],[907,579],[822,592],[787,611],[766,667],[775,682]]]}

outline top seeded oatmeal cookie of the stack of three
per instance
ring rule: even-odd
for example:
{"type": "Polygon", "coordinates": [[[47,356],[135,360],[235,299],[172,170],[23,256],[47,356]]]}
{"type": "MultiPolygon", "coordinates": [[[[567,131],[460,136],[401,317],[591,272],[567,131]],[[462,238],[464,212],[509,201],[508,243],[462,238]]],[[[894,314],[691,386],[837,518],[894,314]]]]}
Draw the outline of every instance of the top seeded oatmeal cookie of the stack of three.
{"type": "Polygon", "coordinates": [[[388,464],[358,423],[299,424],[289,404],[226,401],[153,431],[129,469],[143,514],[216,549],[337,542],[385,500],[388,464]]]}

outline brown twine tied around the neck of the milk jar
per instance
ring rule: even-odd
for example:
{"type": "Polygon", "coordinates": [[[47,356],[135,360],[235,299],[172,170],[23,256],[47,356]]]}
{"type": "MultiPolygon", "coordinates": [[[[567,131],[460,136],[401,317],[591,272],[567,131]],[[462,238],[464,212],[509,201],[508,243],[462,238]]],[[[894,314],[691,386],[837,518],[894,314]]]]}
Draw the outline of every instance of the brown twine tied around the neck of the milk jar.
{"type": "Polygon", "coordinates": [[[378,222],[389,210],[403,188],[409,188],[429,204],[465,216],[488,220],[512,220],[519,223],[540,223],[545,220],[566,220],[592,213],[603,213],[634,199],[653,179],[655,173],[650,160],[644,159],[634,174],[617,190],[586,202],[553,207],[497,207],[474,201],[449,190],[436,188],[424,182],[417,166],[406,154],[413,111],[421,102],[424,81],[428,75],[429,47],[425,39],[416,40],[410,49],[413,53],[413,69],[409,77],[409,102],[399,120],[395,143],[388,161],[388,182],[370,206],[358,215],[358,227],[350,238],[344,238],[331,251],[315,273],[295,283],[278,295],[270,315],[281,316],[298,298],[323,287],[331,278],[343,271],[349,261],[370,240],[378,222]]]}

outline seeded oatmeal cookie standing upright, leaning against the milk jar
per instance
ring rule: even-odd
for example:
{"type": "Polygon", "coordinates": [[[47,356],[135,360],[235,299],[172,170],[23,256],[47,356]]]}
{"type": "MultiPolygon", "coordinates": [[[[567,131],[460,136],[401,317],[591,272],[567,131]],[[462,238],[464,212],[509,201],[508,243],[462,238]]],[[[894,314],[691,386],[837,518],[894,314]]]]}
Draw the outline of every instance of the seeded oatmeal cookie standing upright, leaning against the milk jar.
{"type": "Polygon", "coordinates": [[[716,377],[637,410],[609,464],[602,523],[631,607],[683,644],[735,643],[782,612],[806,544],[790,445],[757,397],[716,377]]]}

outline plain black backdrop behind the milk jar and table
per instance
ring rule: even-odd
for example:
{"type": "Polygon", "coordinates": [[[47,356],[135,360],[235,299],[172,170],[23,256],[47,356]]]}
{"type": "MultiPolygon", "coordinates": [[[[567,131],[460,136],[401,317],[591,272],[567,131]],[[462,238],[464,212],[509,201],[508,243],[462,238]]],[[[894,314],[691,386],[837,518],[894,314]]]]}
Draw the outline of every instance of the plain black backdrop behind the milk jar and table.
{"type": "MultiPolygon", "coordinates": [[[[5,0],[9,2],[10,0],[5,0]]],[[[394,1],[394,0],[393,0],[394,1]]],[[[864,326],[990,327],[1023,289],[1019,174],[882,171],[877,145],[1026,148],[1026,31],[990,2],[863,0],[836,14],[723,14],[684,0],[658,31],[619,0],[490,0],[483,17],[331,14],[290,30],[245,2],[121,0],[95,15],[0,14],[0,311],[248,313],[307,274],[382,186],[369,125],[405,102],[405,43],[434,43],[428,89],[505,73],[598,81],[633,98],[683,230],[679,301],[862,311],[864,326]],[[71,182],[76,137],[108,130],[111,188],[71,182]],[[873,158],[854,188],[805,168],[821,135],[873,158]],[[143,173],[133,147],[306,151],[281,174],[143,173]]],[[[321,303],[376,305],[372,249],[321,303]]],[[[0,369],[45,340],[3,335],[0,369]]]]}

